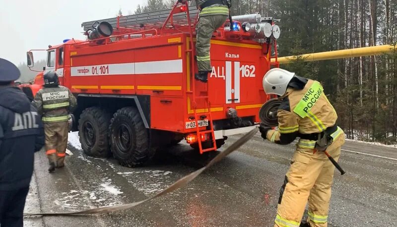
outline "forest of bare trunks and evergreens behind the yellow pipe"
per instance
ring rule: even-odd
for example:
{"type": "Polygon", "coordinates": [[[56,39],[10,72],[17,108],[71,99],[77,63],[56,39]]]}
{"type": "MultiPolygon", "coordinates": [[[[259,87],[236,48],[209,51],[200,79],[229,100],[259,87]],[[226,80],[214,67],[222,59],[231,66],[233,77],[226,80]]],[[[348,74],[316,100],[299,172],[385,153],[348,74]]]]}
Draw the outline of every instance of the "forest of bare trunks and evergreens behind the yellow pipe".
{"type": "MultiPolygon", "coordinates": [[[[148,0],[118,15],[162,10],[175,1],[148,0]]],[[[397,0],[232,0],[231,12],[280,19],[280,57],[397,43],[397,0]]],[[[297,58],[280,67],[324,85],[347,138],[392,144],[397,143],[396,64],[393,52],[316,62],[297,58]]],[[[26,65],[19,68],[24,79],[35,75],[26,65]]]]}

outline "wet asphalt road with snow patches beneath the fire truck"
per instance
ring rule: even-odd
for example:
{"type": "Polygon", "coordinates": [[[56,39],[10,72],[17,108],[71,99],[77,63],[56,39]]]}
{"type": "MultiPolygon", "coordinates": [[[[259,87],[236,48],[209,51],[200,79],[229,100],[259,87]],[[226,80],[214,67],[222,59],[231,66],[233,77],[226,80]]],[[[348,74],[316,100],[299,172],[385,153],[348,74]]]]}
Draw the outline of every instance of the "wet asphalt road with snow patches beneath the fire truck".
{"type": "MultiPolygon", "coordinates": [[[[125,168],[114,159],[87,157],[75,137],[69,138],[73,154],[66,157],[66,168],[56,173],[48,173],[47,157],[36,153],[25,212],[77,211],[143,200],[208,160],[180,143],[165,148],[147,167],[125,168]]],[[[229,137],[224,147],[238,138],[229,137]]],[[[186,187],[131,210],[28,217],[25,226],[270,227],[293,149],[256,136],[186,187]]],[[[335,172],[329,226],[397,226],[396,159],[396,148],[347,141],[339,162],[347,173],[335,172]]]]}

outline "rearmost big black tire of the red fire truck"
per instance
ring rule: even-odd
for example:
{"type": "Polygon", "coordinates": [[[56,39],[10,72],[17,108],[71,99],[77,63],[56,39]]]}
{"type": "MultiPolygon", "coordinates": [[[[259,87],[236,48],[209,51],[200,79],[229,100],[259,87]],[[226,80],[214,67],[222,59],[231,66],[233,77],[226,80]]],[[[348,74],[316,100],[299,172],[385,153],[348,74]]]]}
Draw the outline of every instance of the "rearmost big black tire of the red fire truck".
{"type": "Polygon", "coordinates": [[[153,157],[155,150],[149,147],[148,130],[136,108],[118,110],[109,128],[113,156],[122,166],[141,166],[153,157]]]}

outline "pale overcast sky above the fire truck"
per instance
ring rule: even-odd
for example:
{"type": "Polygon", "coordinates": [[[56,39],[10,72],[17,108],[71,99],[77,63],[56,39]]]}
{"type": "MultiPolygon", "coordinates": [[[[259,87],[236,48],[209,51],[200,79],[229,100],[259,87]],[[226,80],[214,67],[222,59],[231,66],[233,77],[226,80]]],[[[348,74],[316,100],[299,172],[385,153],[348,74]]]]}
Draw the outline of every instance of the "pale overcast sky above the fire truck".
{"type": "MultiPolygon", "coordinates": [[[[31,49],[85,39],[81,23],[133,12],[147,0],[0,0],[0,58],[26,61],[31,49]]],[[[35,61],[43,57],[34,53],[35,61]]]]}

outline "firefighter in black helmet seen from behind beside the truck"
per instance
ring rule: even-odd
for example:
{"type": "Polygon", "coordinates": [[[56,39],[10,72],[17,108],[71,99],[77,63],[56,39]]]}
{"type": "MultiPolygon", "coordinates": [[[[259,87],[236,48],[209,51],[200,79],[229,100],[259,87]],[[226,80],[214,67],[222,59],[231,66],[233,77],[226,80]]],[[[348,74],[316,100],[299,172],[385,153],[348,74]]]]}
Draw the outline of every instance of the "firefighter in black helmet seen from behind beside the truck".
{"type": "Polygon", "coordinates": [[[76,98],[68,88],[59,85],[57,73],[50,71],[44,74],[44,88],[37,92],[33,104],[43,115],[48,171],[53,172],[64,167],[69,113],[76,107],[76,98]]]}

